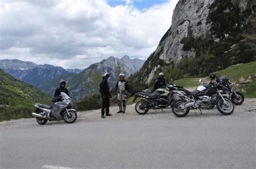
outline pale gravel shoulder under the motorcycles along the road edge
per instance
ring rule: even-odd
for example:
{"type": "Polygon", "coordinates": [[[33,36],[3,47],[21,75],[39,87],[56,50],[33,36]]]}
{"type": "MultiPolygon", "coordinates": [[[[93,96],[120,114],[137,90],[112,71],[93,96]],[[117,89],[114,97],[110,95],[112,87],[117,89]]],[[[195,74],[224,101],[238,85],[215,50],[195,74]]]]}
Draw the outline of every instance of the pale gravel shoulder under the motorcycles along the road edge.
{"type": "MultiPolygon", "coordinates": [[[[106,122],[106,121],[133,121],[133,120],[161,120],[170,119],[175,120],[178,117],[174,116],[170,108],[161,110],[150,110],[146,115],[138,115],[134,110],[134,105],[128,105],[125,114],[116,114],[118,107],[111,107],[110,113],[113,116],[106,117],[105,119],[100,118],[100,110],[90,110],[90,111],[79,111],[76,123],[93,123],[93,122],[106,122]]],[[[200,114],[199,110],[191,110],[190,113],[185,118],[210,118],[212,116],[222,117],[216,108],[212,110],[202,110],[203,114],[200,114]]],[[[235,110],[232,117],[255,117],[256,114],[256,98],[247,98],[242,105],[235,105],[235,110]]],[[[52,125],[60,122],[47,122],[45,125],[52,125]]],[[[12,119],[9,121],[0,122],[1,129],[10,128],[31,128],[33,126],[38,126],[35,118],[22,118],[22,119],[12,119]]]]}

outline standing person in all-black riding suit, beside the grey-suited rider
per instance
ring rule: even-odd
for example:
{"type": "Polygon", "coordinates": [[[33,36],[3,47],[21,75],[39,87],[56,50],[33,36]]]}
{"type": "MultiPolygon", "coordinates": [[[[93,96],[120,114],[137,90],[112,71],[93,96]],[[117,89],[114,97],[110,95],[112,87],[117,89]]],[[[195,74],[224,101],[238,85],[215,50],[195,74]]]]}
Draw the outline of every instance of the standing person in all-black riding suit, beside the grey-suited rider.
{"type": "Polygon", "coordinates": [[[109,77],[109,73],[105,73],[102,76],[102,82],[99,84],[99,91],[102,95],[102,118],[105,118],[105,112],[106,116],[112,116],[109,114],[110,98],[112,97],[109,91],[109,77]]]}

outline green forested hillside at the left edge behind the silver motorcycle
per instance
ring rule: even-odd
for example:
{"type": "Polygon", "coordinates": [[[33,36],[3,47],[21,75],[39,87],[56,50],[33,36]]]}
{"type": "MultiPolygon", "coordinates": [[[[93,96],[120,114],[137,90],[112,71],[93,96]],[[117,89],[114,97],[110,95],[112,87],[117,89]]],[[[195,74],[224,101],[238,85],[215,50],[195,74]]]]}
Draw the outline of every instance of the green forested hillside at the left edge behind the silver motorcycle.
{"type": "Polygon", "coordinates": [[[51,98],[0,69],[0,121],[31,117],[36,102],[50,104],[51,98]]]}

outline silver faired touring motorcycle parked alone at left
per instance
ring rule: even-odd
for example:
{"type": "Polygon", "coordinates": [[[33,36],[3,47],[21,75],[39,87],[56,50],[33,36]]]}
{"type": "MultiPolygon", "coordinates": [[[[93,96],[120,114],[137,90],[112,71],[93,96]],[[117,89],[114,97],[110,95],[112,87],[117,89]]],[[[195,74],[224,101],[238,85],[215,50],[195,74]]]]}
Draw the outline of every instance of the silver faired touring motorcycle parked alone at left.
{"type": "Polygon", "coordinates": [[[36,103],[36,112],[32,112],[32,116],[36,117],[38,124],[45,124],[47,121],[62,121],[66,123],[74,123],[77,119],[77,112],[72,109],[71,98],[65,93],[60,93],[60,100],[51,106],[36,103]]]}

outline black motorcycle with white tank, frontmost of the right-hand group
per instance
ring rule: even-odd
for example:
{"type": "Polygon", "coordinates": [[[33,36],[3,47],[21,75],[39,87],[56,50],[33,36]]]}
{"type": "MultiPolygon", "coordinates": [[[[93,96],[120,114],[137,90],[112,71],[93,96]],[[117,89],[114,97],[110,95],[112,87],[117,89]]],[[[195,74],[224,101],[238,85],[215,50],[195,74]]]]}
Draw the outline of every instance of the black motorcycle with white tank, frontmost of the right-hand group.
{"type": "Polygon", "coordinates": [[[173,98],[172,112],[177,117],[185,117],[191,109],[201,111],[202,107],[216,105],[221,114],[231,115],[234,111],[234,104],[228,95],[223,94],[224,90],[228,90],[228,88],[219,82],[204,83],[194,91],[173,90],[171,95],[173,98]]]}

